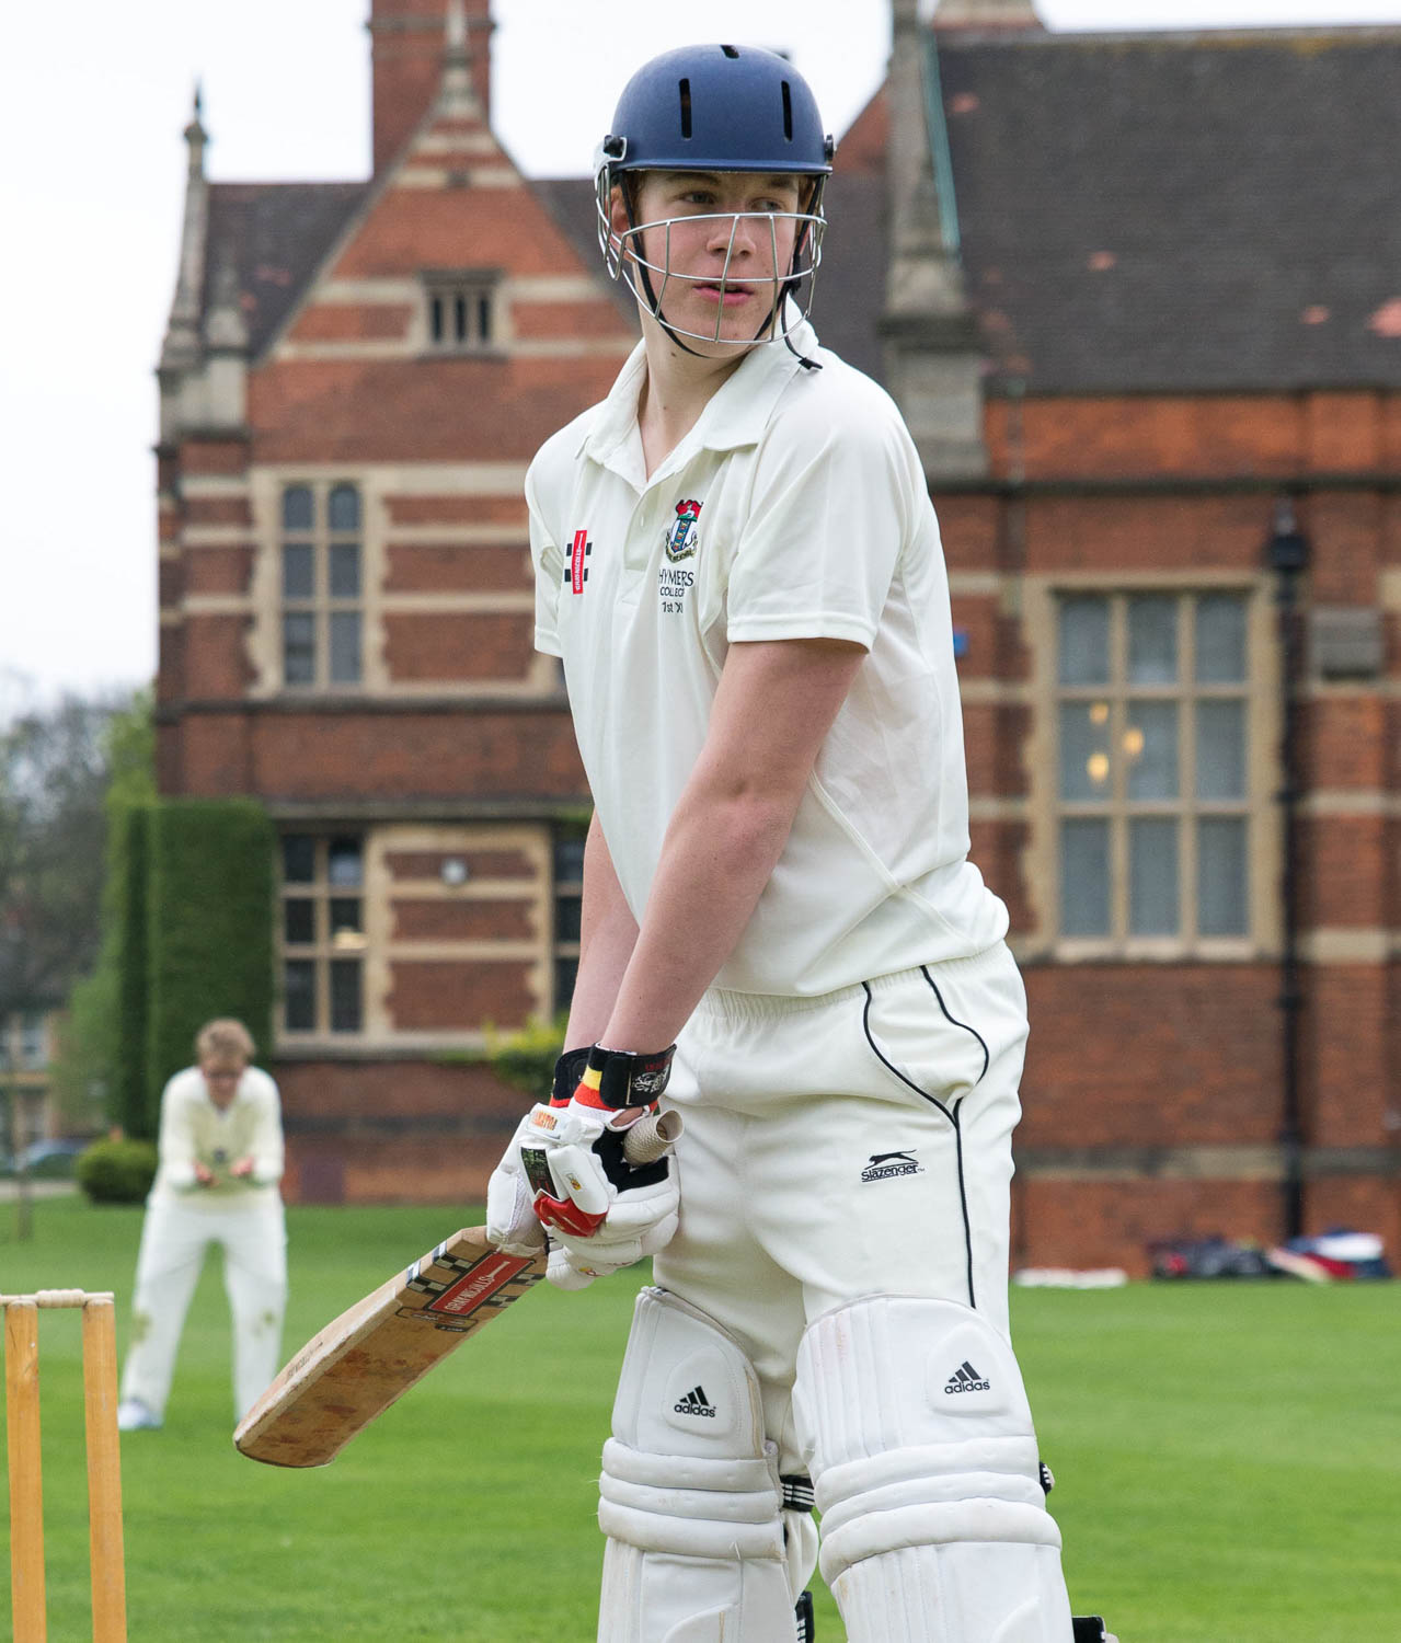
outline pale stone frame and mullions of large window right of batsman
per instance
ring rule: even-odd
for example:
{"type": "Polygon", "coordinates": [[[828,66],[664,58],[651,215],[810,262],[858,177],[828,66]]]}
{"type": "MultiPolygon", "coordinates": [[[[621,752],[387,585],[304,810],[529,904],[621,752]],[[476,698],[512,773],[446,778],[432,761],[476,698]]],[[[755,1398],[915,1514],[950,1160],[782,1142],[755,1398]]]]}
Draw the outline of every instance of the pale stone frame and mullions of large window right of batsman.
{"type": "MultiPolygon", "coordinates": [[[[1281,835],[1278,815],[1279,785],[1279,662],[1275,636],[1273,601],[1268,580],[1240,572],[1197,570],[1183,573],[1125,572],[1061,573],[1025,578],[1023,621],[1033,657],[1031,725],[1025,746],[1030,777],[1028,843],[1023,854],[1025,882],[1033,910],[1033,932],[1018,943],[1025,956],[1077,961],[1220,961],[1240,963],[1275,958],[1279,951],[1281,927],[1278,879],[1281,835]],[[1179,909],[1184,910],[1176,935],[1132,935],[1127,928],[1127,853],[1119,843],[1127,833],[1128,803],[1114,797],[1100,813],[1110,818],[1115,848],[1110,854],[1112,930],[1107,937],[1061,933],[1061,848],[1059,822],[1074,807],[1059,795],[1059,702],[1058,680],[1059,603],[1066,596],[1100,595],[1123,608],[1128,598],[1161,593],[1191,600],[1209,593],[1238,593],[1247,601],[1247,677],[1242,695],[1247,702],[1247,772],[1240,813],[1247,817],[1250,882],[1247,891],[1245,935],[1197,933],[1196,882],[1191,858],[1183,856],[1179,871],[1179,909]]],[[[1181,633],[1179,616],[1179,633],[1181,633]]],[[[1122,633],[1122,618],[1119,618],[1122,633]]],[[[1109,690],[1115,703],[1125,698],[1122,680],[1109,690]]],[[[1192,683],[1179,680],[1179,690],[1153,687],[1153,695],[1184,700],[1196,695],[1192,683]]],[[[1184,734],[1179,729],[1179,734],[1184,734]]],[[[1181,762],[1179,762],[1181,769],[1181,762]]],[[[1168,805],[1163,807],[1169,808],[1168,805]]],[[[1194,798],[1179,795],[1178,813],[1202,813],[1194,798]]]]}

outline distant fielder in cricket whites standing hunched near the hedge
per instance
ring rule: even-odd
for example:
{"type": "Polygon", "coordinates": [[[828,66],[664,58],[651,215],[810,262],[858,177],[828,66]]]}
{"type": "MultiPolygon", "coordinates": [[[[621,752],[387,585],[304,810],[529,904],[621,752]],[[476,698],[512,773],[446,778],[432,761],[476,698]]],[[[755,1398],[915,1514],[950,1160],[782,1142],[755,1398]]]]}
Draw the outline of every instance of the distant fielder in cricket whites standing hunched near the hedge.
{"type": "Polygon", "coordinates": [[[241,1022],[209,1022],[195,1038],[195,1065],[161,1094],[161,1162],[141,1224],[117,1411],[123,1431],[164,1420],[181,1329],[210,1245],[223,1250],[235,1421],[278,1372],[287,1303],[282,1122],[278,1086],[248,1065],[253,1053],[241,1022]]]}

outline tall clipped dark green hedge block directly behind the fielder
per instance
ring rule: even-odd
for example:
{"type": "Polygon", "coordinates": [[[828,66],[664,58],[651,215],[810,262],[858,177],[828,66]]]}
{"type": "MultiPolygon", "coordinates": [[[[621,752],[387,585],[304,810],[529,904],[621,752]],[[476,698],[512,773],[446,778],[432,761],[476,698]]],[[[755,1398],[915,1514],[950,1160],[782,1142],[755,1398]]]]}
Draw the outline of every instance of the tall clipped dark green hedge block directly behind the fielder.
{"type": "Polygon", "coordinates": [[[194,1035],[237,1015],[273,1042],[276,835],[250,798],[164,798],[146,841],[146,1089],[194,1058],[194,1035]]]}

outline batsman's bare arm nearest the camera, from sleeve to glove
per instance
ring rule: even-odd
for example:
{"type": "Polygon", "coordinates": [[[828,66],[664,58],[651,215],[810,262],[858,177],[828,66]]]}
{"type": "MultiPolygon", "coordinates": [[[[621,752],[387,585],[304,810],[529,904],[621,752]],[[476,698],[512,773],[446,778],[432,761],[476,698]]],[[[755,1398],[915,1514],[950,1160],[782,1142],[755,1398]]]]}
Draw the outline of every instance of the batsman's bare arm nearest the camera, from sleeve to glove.
{"type": "Polygon", "coordinates": [[[672,1043],[734,951],[864,654],[816,639],[731,646],[705,751],[667,828],[599,1037],[608,1048],[672,1043]]]}

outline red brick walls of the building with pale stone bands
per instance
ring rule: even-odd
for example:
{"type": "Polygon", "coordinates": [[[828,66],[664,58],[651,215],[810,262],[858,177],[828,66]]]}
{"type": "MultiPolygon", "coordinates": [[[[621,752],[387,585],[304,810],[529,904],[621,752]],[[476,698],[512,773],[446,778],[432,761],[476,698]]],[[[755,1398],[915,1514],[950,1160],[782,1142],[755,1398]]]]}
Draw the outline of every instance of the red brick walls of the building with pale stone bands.
{"type": "MultiPolygon", "coordinates": [[[[406,148],[439,82],[445,12],[445,0],[373,3],[379,186],[281,338],[251,361],[248,437],[195,432],[159,453],[164,792],[246,792],[281,813],[373,807],[388,822],[396,807],[452,818],[453,807],[539,815],[586,802],[554,679],[531,672],[519,476],[545,437],[608,391],[631,330],[603,284],[588,288],[593,265],[483,123],[440,120],[406,148]],[[462,266],[501,276],[499,335],[478,355],[434,355],[414,283],[462,266]],[[471,483],[442,483],[468,465],[471,483]],[[268,470],[355,480],[361,468],[388,475],[374,493],[384,532],[376,657],[389,687],[409,695],[292,700],[253,665],[251,600],[268,544],[238,485],[268,470]],[[493,685],[514,711],[485,700],[493,685]],[[468,700],[478,687],[483,700],[468,700]]],[[[485,99],[486,0],[470,0],[468,18],[485,99]]],[[[846,166],[879,171],[885,118],[877,97],[844,143],[846,166]]],[[[1401,928],[1401,818],[1391,815],[1401,495],[1362,476],[1401,468],[1401,396],[1031,394],[1015,409],[992,398],[985,437],[992,483],[936,503],[967,637],[959,672],[974,859],[1007,900],[1013,938],[1045,917],[1031,808],[1045,703],[1028,588],[1058,577],[1105,588],[1156,573],[1178,587],[1263,578],[1275,491],[1302,486],[1307,600],[1385,611],[1383,679],[1306,688],[1301,1094],[1311,1229],[1371,1227],[1401,1257],[1401,989],[1390,956],[1401,928]],[[1353,480],[1340,483],[1344,472],[1353,480]],[[1025,475],[1027,488],[1010,475],[1025,475]]],[[[524,1020],[547,966],[542,863],[509,849],[386,856],[396,950],[383,1002],[394,1030],[430,1040],[466,1020],[524,1020]],[[440,877],[445,854],[466,856],[470,884],[498,881],[491,897],[432,899],[422,886],[440,877]],[[476,945],[493,941],[503,956],[481,958],[476,945]],[[517,955],[531,941],[544,955],[534,976],[517,955]],[[470,951],[442,956],[453,945],[470,951]]],[[[1273,874],[1278,863],[1253,869],[1273,874]]],[[[1013,1188],[1020,1262],[1141,1272],[1153,1239],[1278,1236],[1283,1017],[1271,940],[1232,963],[1071,964],[1045,943],[1036,950],[1013,1188]]],[[[302,1201],[480,1199],[524,1106],[485,1068],[427,1050],[287,1058],[278,1076],[287,1191],[302,1201]]]]}

